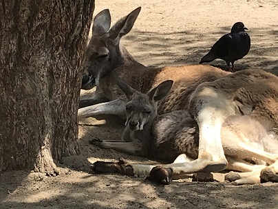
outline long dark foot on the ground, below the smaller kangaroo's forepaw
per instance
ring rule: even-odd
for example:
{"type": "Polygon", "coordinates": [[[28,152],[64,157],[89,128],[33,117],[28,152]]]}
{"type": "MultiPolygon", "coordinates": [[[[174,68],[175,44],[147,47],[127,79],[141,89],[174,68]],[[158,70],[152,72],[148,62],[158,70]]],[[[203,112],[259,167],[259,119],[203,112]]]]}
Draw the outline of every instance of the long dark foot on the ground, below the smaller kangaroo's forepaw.
{"type": "Polygon", "coordinates": [[[95,173],[125,173],[125,160],[120,158],[117,163],[96,161],[90,167],[95,173]]]}

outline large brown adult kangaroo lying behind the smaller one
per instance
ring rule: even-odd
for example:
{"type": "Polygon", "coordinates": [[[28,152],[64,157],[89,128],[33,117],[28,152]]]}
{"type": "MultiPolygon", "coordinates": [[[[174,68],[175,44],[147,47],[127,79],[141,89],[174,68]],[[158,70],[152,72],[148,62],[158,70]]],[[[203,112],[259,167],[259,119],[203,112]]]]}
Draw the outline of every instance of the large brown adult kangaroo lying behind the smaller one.
{"type": "MultiPolygon", "coordinates": [[[[242,70],[231,74],[219,68],[202,65],[165,68],[143,66],[135,61],[120,43],[121,37],[133,27],[139,12],[140,8],[133,10],[111,28],[109,10],[103,10],[94,18],[93,35],[83,63],[82,87],[89,89],[96,86],[96,92],[88,101],[81,101],[83,108],[78,110],[78,117],[100,114],[125,115],[127,96],[116,85],[116,77],[120,77],[131,88],[142,93],[155,88],[162,81],[172,80],[173,86],[169,94],[160,101],[152,102],[157,106],[159,115],[175,110],[189,111],[197,124],[197,159],[188,161],[187,157],[178,157],[175,163],[162,166],[153,172],[151,172],[153,166],[149,165],[123,166],[120,163],[118,169],[125,168],[125,172],[132,175],[149,175],[150,172],[152,175],[160,172],[167,174],[162,175],[160,182],[165,178],[184,174],[224,170],[230,164],[228,165],[224,155],[221,130],[225,121],[233,115],[248,115],[257,121],[269,121],[273,124],[272,130],[275,136],[277,135],[278,80],[275,75],[264,70],[242,70]]],[[[144,128],[143,125],[136,123],[131,126],[144,128]]],[[[126,143],[133,143],[128,130],[125,131],[123,139],[126,143]]],[[[248,150],[255,156],[264,157],[267,165],[270,165],[260,168],[262,179],[268,181],[277,177],[275,154],[268,155],[266,152],[246,146],[241,148],[244,153],[248,150]]],[[[247,165],[240,159],[238,161],[235,159],[235,163],[238,166],[247,165]]],[[[95,164],[95,167],[98,166],[95,164]]],[[[257,177],[257,174],[255,176],[257,177]]],[[[248,181],[255,180],[251,178],[248,181]]],[[[239,182],[241,181],[237,181],[239,182]]]]}

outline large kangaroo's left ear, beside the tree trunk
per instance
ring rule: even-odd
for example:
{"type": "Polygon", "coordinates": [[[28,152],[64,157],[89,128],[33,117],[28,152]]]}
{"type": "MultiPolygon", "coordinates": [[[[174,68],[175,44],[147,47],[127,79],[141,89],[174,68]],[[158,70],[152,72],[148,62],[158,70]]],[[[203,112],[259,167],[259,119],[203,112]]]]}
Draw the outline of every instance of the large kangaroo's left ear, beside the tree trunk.
{"type": "Polygon", "coordinates": [[[111,16],[108,9],[96,14],[93,23],[93,34],[102,35],[108,32],[111,26],[111,16]]]}

